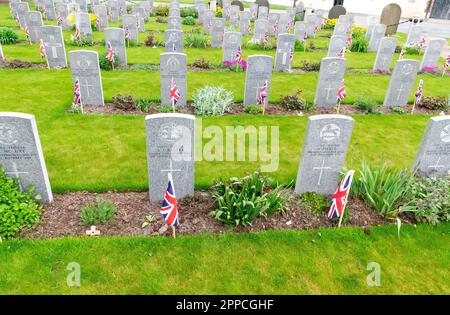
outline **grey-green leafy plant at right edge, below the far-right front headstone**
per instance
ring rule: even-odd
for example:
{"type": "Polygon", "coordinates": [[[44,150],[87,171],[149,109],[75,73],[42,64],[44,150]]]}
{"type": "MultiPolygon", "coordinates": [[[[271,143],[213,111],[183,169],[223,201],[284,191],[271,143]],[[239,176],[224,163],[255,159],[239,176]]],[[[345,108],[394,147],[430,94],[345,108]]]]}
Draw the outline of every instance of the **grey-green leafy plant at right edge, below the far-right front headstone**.
{"type": "Polygon", "coordinates": [[[450,180],[414,177],[406,189],[400,212],[413,212],[418,222],[433,225],[450,221],[450,180]]]}

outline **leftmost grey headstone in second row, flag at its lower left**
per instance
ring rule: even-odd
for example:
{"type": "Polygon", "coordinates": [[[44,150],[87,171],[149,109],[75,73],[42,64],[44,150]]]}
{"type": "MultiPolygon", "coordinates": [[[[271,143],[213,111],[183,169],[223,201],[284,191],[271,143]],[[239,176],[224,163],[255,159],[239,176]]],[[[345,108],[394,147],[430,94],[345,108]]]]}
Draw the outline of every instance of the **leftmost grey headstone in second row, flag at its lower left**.
{"type": "Polygon", "coordinates": [[[69,59],[72,82],[75,84],[76,80],[79,81],[83,106],[105,105],[98,53],[90,50],[74,50],[69,52],[69,59]]]}

